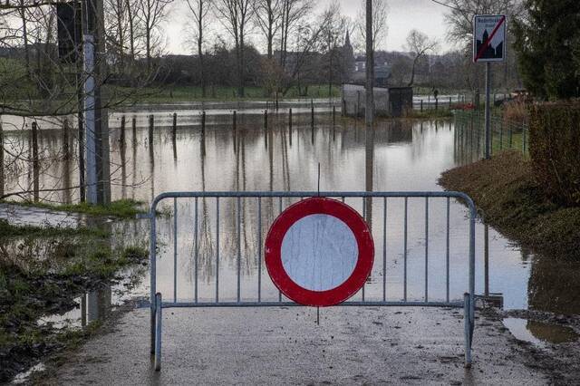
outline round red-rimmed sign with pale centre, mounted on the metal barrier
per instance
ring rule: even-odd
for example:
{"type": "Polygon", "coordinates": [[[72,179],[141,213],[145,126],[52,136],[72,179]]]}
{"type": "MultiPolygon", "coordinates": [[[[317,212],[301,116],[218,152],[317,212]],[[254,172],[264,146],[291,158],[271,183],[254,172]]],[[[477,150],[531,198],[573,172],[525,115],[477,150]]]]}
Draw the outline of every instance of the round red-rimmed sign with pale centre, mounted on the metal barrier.
{"type": "Polygon", "coordinates": [[[373,259],[369,227],[352,207],[331,198],[288,207],[266,237],[268,273],[299,304],[343,303],[362,288],[373,259]]]}

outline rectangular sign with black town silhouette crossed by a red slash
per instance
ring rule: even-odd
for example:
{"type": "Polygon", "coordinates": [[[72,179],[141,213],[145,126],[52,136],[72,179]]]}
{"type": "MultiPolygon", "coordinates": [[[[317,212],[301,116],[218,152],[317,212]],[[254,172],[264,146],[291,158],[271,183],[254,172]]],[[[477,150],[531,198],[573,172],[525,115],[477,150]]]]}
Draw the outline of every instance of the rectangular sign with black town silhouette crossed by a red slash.
{"type": "Polygon", "coordinates": [[[478,14],[473,19],[473,62],[506,59],[506,15],[478,14]]]}

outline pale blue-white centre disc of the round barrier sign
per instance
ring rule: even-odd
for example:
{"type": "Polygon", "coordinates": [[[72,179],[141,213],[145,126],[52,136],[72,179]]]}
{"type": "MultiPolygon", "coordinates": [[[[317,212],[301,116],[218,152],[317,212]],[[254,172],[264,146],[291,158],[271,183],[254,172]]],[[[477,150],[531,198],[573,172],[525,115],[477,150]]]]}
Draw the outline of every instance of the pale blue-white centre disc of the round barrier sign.
{"type": "Polygon", "coordinates": [[[342,285],[358,261],[353,231],[330,215],[310,215],[296,221],[282,240],[282,265],[295,284],[310,291],[342,285]]]}

